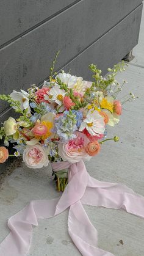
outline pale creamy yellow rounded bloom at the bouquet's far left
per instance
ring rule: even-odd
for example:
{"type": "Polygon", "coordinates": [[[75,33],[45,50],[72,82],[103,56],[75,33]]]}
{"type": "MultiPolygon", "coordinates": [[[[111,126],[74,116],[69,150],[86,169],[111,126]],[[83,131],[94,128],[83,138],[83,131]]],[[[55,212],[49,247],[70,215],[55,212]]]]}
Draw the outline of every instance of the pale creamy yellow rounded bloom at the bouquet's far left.
{"type": "Polygon", "coordinates": [[[4,122],[4,131],[7,136],[13,135],[16,133],[17,130],[17,125],[16,125],[16,120],[13,119],[13,117],[9,117],[4,122]]]}

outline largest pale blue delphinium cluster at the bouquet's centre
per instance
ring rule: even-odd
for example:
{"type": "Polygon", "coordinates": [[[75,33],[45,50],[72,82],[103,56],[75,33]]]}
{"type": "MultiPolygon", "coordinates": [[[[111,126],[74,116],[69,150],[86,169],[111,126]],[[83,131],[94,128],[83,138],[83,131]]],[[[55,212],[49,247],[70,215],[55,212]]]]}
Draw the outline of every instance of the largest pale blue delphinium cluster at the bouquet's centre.
{"type": "Polygon", "coordinates": [[[55,119],[57,134],[62,141],[68,141],[76,137],[74,134],[74,131],[77,130],[76,123],[76,115],[72,111],[64,111],[63,116],[55,119]]]}

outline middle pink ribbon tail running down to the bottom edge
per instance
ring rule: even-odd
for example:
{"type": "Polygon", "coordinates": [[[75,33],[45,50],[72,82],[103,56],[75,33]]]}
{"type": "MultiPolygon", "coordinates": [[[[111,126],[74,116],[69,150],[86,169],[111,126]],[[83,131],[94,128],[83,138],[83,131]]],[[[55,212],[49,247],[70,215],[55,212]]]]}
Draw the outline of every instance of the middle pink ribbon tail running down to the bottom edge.
{"type": "Polygon", "coordinates": [[[80,200],[70,207],[68,233],[83,256],[113,256],[98,248],[98,232],[88,219],[80,200]]]}

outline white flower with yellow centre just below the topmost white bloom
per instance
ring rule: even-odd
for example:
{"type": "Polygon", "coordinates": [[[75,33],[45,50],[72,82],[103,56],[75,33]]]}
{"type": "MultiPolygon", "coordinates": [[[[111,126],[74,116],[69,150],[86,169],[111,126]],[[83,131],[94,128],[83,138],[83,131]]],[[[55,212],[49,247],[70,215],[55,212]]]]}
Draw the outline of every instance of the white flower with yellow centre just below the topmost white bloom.
{"type": "Polygon", "coordinates": [[[59,106],[63,104],[63,98],[65,97],[65,90],[60,89],[60,86],[56,84],[56,86],[52,87],[48,95],[45,95],[45,100],[50,102],[56,102],[59,106]]]}

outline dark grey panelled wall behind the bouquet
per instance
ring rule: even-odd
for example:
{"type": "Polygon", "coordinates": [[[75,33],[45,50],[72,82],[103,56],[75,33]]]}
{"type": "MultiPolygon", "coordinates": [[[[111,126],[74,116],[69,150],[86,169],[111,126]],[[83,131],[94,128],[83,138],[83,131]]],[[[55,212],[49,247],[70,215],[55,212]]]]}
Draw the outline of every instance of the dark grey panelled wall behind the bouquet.
{"type": "MultiPolygon", "coordinates": [[[[56,70],[90,79],[88,64],[107,67],[138,42],[142,0],[5,0],[0,3],[0,93],[41,84],[56,70]]],[[[12,115],[0,103],[0,121],[12,115]]]]}

